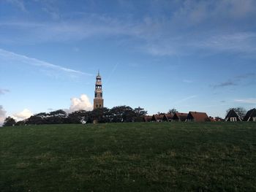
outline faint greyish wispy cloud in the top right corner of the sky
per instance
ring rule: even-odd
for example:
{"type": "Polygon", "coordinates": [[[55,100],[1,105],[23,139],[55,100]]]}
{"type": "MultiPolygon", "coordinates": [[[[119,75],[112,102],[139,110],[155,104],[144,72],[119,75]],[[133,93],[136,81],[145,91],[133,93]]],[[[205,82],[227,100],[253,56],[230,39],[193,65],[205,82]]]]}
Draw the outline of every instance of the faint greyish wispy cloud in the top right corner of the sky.
{"type": "Polygon", "coordinates": [[[253,0],[181,1],[178,9],[173,13],[173,21],[181,22],[182,27],[197,26],[209,21],[212,24],[225,23],[226,20],[242,20],[255,14],[255,5],[253,0]]]}

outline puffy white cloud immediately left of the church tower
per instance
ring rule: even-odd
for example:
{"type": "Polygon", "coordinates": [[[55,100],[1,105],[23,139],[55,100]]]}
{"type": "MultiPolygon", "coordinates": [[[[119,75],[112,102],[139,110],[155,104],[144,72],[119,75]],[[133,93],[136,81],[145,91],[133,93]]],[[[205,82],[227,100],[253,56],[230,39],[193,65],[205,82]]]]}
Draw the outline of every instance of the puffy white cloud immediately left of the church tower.
{"type": "Polygon", "coordinates": [[[75,112],[78,110],[86,110],[86,111],[92,110],[92,104],[90,102],[90,99],[85,94],[82,94],[80,98],[73,97],[70,100],[71,100],[71,105],[69,107],[69,110],[67,110],[67,112],[75,112]]]}

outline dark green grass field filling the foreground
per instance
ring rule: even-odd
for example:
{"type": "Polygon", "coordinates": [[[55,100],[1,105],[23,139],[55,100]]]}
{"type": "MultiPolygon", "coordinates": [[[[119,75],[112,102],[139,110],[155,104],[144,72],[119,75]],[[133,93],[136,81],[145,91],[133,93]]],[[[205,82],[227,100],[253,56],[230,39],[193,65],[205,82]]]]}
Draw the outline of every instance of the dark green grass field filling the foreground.
{"type": "Polygon", "coordinates": [[[256,191],[256,123],[0,128],[0,191],[256,191]]]}

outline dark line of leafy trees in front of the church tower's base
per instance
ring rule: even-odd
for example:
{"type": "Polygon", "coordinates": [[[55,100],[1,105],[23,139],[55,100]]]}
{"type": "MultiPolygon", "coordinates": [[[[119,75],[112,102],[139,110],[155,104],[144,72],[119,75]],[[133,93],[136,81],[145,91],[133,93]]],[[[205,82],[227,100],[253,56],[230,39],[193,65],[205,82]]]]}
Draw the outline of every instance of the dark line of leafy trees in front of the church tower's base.
{"type": "Polygon", "coordinates": [[[40,124],[62,124],[62,123],[121,123],[140,122],[147,114],[143,108],[129,106],[118,106],[112,109],[102,108],[92,111],[79,110],[67,113],[64,110],[53,112],[40,112],[36,115],[15,122],[11,117],[4,120],[4,126],[40,125],[40,124]]]}

